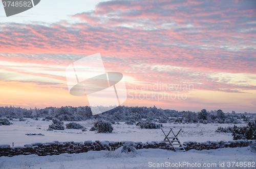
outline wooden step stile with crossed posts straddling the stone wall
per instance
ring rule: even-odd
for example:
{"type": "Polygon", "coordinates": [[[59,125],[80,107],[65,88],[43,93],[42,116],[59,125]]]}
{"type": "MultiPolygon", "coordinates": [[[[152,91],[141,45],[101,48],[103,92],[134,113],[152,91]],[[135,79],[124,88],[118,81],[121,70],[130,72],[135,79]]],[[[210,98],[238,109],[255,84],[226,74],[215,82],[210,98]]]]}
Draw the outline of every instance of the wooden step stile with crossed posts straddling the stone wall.
{"type": "Polygon", "coordinates": [[[174,149],[174,151],[178,150],[178,151],[186,152],[186,150],[184,149],[184,147],[180,143],[180,140],[177,137],[180,134],[181,131],[183,132],[182,129],[180,129],[180,131],[176,135],[173,132],[173,128],[170,128],[170,131],[169,131],[169,133],[167,135],[164,133],[162,128],[161,128],[161,130],[162,130],[162,132],[163,132],[163,134],[165,136],[163,140],[166,141],[166,142],[169,142],[170,149],[174,149]],[[173,133],[174,137],[169,137],[170,132],[173,133]]]}

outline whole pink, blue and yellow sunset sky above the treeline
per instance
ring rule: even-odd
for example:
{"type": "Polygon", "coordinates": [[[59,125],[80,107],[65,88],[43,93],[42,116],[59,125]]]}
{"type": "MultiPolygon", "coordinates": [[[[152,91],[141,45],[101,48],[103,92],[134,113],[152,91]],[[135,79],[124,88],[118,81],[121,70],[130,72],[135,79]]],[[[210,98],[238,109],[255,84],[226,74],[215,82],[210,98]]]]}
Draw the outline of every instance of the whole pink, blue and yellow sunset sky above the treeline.
{"type": "Polygon", "coordinates": [[[10,17],[0,4],[0,106],[89,105],[65,70],[100,53],[122,105],[256,113],[255,35],[249,0],[41,0],[10,17]]]}

